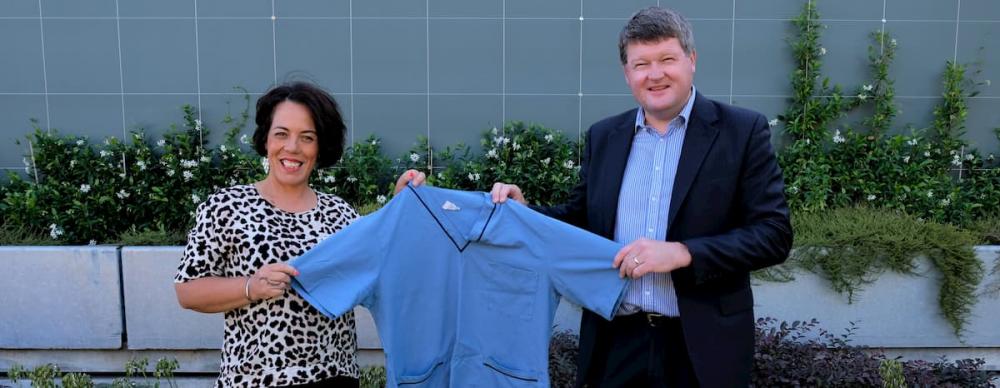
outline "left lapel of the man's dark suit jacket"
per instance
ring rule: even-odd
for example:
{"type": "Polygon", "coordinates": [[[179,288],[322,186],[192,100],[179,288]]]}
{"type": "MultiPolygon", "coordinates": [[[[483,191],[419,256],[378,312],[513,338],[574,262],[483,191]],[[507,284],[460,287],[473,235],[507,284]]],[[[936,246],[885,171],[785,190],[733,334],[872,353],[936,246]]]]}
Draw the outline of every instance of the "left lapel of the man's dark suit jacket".
{"type": "Polygon", "coordinates": [[[628,163],[628,154],[632,150],[632,137],[635,135],[635,115],[637,109],[633,109],[625,114],[625,119],[618,128],[608,134],[607,160],[601,174],[605,180],[605,187],[613,187],[614,190],[608,192],[607,202],[602,203],[600,209],[604,210],[604,225],[601,228],[605,236],[614,238],[615,217],[618,216],[618,195],[621,193],[622,178],[625,175],[625,165],[628,163]]]}

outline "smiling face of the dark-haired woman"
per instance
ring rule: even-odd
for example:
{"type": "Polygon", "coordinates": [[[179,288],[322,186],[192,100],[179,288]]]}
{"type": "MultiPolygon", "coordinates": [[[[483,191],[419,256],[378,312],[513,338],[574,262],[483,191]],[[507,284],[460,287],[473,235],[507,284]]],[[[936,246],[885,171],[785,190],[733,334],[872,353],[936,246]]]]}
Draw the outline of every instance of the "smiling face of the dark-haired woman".
{"type": "Polygon", "coordinates": [[[278,104],[265,148],[269,177],[288,186],[308,184],[319,154],[319,138],[309,108],[294,101],[278,104]]]}

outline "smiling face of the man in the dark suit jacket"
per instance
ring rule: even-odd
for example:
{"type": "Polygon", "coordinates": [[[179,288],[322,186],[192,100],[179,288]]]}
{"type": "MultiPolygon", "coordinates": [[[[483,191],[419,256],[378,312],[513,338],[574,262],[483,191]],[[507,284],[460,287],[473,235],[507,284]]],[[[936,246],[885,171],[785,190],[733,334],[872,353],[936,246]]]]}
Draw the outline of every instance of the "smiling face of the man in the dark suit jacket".
{"type": "Polygon", "coordinates": [[[647,116],[671,120],[687,103],[698,55],[677,38],[632,42],[625,47],[625,80],[647,116]]]}

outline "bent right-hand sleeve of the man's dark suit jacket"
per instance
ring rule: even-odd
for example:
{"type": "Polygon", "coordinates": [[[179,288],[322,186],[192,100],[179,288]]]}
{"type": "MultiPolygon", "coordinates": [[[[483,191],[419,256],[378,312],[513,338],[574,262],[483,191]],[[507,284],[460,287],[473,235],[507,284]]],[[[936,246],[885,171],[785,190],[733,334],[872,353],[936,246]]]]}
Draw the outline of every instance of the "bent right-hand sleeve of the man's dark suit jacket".
{"type": "Polygon", "coordinates": [[[683,240],[695,283],[780,264],[792,246],[784,183],[767,119],[756,115],[743,154],[735,215],[741,225],[723,234],[683,240]]]}

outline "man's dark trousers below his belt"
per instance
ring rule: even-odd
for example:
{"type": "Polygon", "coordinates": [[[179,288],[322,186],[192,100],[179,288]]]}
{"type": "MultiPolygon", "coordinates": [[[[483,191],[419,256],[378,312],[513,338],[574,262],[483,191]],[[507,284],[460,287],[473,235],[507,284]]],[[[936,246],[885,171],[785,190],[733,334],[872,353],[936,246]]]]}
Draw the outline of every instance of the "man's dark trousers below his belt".
{"type": "MultiPolygon", "coordinates": [[[[697,387],[679,318],[639,313],[611,321],[604,377],[609,387],[697,387]]],[[[600,357],[600,355],[595,355],[600,357]]]]}

